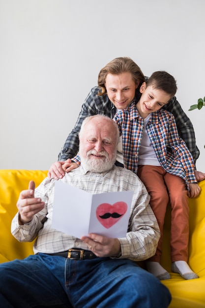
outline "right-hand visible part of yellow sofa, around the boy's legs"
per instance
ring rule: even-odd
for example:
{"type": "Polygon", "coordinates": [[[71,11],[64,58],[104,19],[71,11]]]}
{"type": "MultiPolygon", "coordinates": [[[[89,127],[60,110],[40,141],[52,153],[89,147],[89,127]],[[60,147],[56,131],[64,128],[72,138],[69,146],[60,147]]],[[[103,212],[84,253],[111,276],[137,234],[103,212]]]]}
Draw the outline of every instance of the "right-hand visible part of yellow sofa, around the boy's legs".
{"type": "Polygon", "coordinates": [[[170,221],[171,210],[167,209],[164,224],[162,266],[170,272],[171,279],[162,280],[172,294],[169,308],[205,307],[205,180],[197,198],[189,199],[189,266],[199,276],[184,280],[179,274],[171,272],[170,259],[170,221]]]}

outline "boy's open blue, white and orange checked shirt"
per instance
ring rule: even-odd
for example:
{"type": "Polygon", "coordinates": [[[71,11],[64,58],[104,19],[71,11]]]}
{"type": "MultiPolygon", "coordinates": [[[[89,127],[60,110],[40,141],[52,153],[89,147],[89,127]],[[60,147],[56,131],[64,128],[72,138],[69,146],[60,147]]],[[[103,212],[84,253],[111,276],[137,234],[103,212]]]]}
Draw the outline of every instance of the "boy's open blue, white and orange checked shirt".
{"type": "MultiPolygon", "coordinates": [[[[144,119],[135,104],[119,111],[113,119],[122,135],[124,166],[137,174],[144,119]]],[[[181,177],[187,185],[196,183],[194,161],[185,142],[178,136],[174,116],[162,109],[150,114],[146,130],[161,166],[181,177]]]]}

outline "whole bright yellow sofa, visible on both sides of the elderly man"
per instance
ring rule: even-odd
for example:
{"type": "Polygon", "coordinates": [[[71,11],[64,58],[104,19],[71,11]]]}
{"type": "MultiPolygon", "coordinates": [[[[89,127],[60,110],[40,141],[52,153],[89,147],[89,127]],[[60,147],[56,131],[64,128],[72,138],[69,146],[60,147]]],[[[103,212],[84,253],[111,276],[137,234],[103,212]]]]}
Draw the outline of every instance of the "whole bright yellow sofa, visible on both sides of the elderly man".
{"type": "MultiPolygon", "coordinates": [[[[33,253],[33,243],[19,243],[11,235],[11,220],[17,213],[20,191],[28,188],[30,180],[34,180],[37,186],[46,176],[47,171],[40,170],[0,170],[0,263],[33,253]]],[[[169,207],[166,214],[162,265],[170,272],[171,279],[162,283],[172,293],[170,308],[205,308],[205,181],[200,182],[200,186],[199,197],[189,200],[189,265],[200,278],[184,280],[171,272],[169,207]]]]}

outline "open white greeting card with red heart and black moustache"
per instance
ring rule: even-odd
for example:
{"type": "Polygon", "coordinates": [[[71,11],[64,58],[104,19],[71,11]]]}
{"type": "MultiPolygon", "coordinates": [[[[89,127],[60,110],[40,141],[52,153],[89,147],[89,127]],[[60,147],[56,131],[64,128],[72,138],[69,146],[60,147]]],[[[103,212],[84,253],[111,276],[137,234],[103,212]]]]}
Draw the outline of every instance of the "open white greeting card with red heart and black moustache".
{"type": "Polygon", "coordinates": [[[52,227],[81,238],[96,233],[111,238],[126,236],[132,191],[92,194],[56,182],[52,227]]]}

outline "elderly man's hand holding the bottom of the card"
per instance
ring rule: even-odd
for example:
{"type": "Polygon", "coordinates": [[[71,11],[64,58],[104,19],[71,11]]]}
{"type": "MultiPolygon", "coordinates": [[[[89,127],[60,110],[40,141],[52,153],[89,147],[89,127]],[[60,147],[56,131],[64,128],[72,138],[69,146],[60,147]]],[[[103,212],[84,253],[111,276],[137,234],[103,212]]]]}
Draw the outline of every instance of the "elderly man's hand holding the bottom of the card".
{"type": "Polygon", "coordinates": [[[121,250],[118,239],[90,233],[88,236],[83,236],[81,240],[98,257],[117,257],[121,250]]]}

